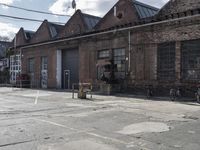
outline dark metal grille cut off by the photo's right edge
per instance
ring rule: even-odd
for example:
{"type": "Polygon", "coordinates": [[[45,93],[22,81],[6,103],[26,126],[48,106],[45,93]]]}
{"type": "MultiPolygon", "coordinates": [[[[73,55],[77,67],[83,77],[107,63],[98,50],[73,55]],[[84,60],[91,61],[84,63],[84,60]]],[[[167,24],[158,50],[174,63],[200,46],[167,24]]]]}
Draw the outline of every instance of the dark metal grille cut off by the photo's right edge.
{"type": "Polygon", "coordinates": [[[182,51],[182,79],[200,80],[200,40],[183,41],[182,51]]]}

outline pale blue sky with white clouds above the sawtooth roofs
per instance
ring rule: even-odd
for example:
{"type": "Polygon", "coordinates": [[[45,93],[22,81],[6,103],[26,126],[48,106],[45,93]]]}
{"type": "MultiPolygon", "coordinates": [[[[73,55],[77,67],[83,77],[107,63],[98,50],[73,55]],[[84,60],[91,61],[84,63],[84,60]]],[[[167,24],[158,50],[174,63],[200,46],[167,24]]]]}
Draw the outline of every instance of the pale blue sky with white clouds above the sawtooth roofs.
{"type": "MultiPolygon", "coordinates": [[[[33,12],[26,12],[10,7],[5,7],[2,4],[8,4],[27,9],[34,9],[39,11],[67,14],[72,15],[74,10],[71,8],[72,0],[0,0],[0,15],[17,16],[24,18],[31,18],[37,20],[47,19],[51,22],[66,23],[69,17],[67,16],[54,16],[38,14],[33,12]]],[[[118,0],[76,0],[77,9],[81,9],[84,13],[89,13],[103,17],[106,12],[117,2],[118,0]]],[[[138,0],[155,7],[162,7],[168,0],[138,0]]],[[[25,20],[14,20],[10,18],[4,18],[0,16],[0,36],[8,36],[13,38],[15,33],[20,27],[24,27],[26,30],[37,30],[41,23],[30,22],[25,20]]]]}

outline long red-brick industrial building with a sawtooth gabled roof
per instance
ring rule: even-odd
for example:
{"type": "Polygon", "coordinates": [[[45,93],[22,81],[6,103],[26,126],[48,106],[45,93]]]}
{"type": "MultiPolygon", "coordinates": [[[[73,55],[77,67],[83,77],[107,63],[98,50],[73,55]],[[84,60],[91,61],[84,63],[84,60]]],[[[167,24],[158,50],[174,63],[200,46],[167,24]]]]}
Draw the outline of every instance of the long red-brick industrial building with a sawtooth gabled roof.
{"type": "Polygon", "coordinates": [[[78,10],[65,26],[44,21],[17,49],[22,73],[42,88],[68,89],[88,82],[124,89],[196,86],[200,3],[173,0],[159,10],[119,0],[103,18],[78,10]]]}

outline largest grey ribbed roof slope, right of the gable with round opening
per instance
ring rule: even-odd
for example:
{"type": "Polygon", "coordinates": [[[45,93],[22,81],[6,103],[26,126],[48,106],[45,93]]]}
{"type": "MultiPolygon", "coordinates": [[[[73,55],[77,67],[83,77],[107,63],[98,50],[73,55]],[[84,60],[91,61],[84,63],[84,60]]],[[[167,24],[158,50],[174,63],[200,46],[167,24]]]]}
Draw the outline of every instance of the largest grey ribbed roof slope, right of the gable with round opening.
{"type": "Polygon", "coordinates": [[[133,5],[135,6],[140,19],[144,19],[144,18],[148,18],[148,17],[152,17],[155,14],[157,14],[157,12],[159,11],[158,8],[138,2],[136,0],[132,0],[133,1],[133,5]]]}

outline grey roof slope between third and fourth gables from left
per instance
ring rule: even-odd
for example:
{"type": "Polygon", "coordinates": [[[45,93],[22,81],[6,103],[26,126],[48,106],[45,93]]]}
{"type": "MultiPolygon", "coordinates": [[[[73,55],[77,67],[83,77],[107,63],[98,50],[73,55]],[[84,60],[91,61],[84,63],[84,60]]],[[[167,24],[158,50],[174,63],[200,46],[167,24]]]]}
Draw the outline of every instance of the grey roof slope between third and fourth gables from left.
{"type": "Polygon", "coordinates": [[[82,15],[83,15],[85,24],[88,27],[88,30],[92,30],[96,26],[96,24],[101,20],[101,18],[97,16],[84,14],[84,13],[82,13],[82,15]]]}

